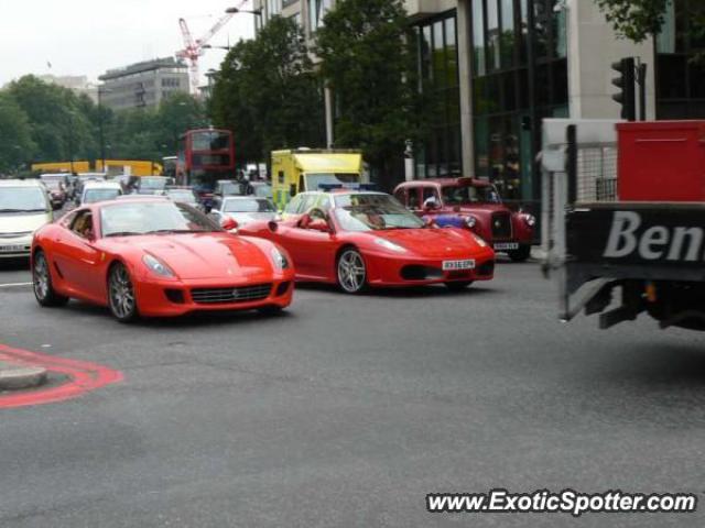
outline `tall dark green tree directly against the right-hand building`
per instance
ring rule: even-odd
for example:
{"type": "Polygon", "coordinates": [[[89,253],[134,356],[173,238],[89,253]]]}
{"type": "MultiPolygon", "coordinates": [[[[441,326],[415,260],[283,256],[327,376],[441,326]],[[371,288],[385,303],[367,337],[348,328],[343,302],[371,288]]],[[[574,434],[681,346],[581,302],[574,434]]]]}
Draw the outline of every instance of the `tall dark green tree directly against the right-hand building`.
{"type": "Polygon", "coordinates": [[[335,96],[335,144],[361,147],[386,188],[401,172],[404,140],[419,133],[413,41],[400,0],[340,0],[316,35],[335,96]]]}

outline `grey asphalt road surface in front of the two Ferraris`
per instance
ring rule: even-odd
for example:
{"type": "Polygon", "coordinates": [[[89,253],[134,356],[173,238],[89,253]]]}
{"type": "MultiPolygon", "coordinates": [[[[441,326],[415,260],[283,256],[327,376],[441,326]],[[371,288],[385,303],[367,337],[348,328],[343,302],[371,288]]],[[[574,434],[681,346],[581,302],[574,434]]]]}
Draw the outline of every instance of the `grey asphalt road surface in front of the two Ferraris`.
{"type": "MultiPolygon", "coordinates": [[[[705,492],[705,337],[555,319],[535,264],[467,293],[299,288],[284,316],[115,322],[0,286],[0,343],[124,381],[0,410],[0,526],[702,527],[429,514],[431,492],[705,492]],[[43,346],[51,345],[51,346],[43,346]]],[[[0,285],[29,280],[0,266],[0,285]]]]}

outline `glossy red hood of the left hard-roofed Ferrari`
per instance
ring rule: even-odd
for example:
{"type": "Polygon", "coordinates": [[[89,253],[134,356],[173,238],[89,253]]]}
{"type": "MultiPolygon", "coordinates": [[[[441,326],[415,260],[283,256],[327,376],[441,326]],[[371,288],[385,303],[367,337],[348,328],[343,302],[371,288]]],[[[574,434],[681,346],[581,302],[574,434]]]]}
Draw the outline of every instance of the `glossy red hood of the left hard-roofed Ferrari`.
{"type": "Polygon", "coordinates": [[[226,233],[158,234],[122,240],[160,258],[182,279],[256,278],[273,270],[270,257],[254,243],[226,233]]]}

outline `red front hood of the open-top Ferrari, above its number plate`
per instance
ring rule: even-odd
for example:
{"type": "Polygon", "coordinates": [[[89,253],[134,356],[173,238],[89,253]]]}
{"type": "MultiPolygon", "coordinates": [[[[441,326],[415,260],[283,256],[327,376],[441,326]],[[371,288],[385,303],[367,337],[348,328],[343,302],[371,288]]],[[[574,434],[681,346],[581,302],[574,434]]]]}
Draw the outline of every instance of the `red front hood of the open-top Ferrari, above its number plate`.
{"type": "Polygon", "coordinates": [[[459,229],[391,229],[376,231],[375,237],[393,242],[423,256],[446,256],[479,249],[475,238],[459,229]]]}

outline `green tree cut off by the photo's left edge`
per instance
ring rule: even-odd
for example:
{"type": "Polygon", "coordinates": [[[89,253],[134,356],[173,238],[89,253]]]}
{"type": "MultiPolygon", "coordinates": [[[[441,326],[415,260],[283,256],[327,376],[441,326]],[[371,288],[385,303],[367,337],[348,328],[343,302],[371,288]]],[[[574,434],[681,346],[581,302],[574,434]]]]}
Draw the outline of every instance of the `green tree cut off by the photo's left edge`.
{"type": "Polygon", "coordinates": [[[32,160],[36,145],[26,114],[9,95],[0,92],[0,173],[32,160]]]}

